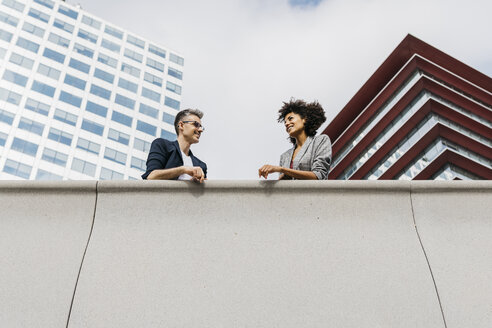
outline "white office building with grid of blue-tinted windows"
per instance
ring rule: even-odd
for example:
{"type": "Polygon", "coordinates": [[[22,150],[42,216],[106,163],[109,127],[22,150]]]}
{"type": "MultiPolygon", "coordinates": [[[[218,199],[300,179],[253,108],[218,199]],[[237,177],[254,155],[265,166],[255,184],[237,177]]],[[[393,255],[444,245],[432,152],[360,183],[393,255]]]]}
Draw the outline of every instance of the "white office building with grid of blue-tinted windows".
{"type": "Polygon", "coordinates": [[[0,3],[0,179],[140,179],[184,59],[53,0],[0,3]]]}

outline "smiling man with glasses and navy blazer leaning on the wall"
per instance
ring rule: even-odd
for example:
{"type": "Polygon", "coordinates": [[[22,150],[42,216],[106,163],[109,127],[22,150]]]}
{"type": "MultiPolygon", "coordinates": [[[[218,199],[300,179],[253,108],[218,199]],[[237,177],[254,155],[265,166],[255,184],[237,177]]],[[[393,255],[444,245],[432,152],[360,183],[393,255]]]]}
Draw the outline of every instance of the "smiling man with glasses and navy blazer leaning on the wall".
{"type": "Polygon", "coordinates": [[[203,113],[197,109],[185,109],[176,115],[177,140],[157,138],[152,142],[143,179],[203,182],[207,177],[207,164],[193,156],[190,150],[192,144],[199,142],[204,130],[202,117],[203,113]]]}

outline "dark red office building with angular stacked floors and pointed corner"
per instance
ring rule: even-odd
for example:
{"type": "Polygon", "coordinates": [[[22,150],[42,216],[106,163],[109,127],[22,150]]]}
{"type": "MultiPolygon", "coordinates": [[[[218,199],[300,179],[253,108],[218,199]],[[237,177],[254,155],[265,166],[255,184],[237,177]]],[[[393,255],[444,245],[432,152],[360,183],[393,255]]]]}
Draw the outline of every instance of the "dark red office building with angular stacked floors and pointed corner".
{"type": "Polygon", "coordinates": [[[492,79],[408,35],[323,133],[330,179],[492,179],[492,79]]]}

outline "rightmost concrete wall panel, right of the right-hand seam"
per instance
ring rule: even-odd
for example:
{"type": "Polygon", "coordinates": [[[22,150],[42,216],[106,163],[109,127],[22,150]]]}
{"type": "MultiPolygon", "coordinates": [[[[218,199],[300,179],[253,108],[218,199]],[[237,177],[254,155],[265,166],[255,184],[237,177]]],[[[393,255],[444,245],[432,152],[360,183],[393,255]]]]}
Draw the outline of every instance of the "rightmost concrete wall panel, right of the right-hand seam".
{"type": "Polygon", "coordinates": [[[492,327],[490,183],[461,182],[454,189],[421,183],[412,201],[447,326],[492,327]]]}

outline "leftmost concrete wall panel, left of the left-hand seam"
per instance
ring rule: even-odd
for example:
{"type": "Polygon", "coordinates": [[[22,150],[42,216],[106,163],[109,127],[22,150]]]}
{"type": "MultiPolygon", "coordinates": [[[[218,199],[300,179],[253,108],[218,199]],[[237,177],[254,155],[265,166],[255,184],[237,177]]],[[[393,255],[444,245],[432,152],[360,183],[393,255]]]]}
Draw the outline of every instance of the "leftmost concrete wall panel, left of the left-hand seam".
{"type": "Polygon", "coordinates": [[[65,327],[96,182],[0,183],[0,327],[65,327]]]}

